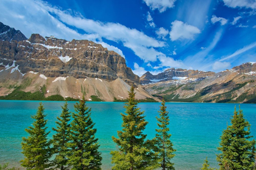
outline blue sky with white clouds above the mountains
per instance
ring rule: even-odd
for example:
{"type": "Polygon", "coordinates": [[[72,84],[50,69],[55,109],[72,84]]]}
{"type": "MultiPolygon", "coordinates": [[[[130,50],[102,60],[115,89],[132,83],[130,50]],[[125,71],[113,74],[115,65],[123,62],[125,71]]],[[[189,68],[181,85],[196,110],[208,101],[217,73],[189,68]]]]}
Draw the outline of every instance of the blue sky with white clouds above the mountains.
{"type": "Polygon", "coordinates": [[[175,67],[219,72],[256,61],[255,0],[1,0],[0,21],[31,33],[88,39],[141,76],[175,67]]]}

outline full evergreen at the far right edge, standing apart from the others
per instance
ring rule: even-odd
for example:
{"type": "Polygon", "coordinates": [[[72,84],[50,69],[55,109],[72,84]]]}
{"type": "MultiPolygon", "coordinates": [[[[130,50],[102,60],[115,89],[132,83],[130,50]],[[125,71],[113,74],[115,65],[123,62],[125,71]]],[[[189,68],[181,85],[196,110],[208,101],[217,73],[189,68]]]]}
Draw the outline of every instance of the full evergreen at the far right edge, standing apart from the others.
{"type": "Polygon", "coordinates": [[[221,169],[254,169],[255,168],[255,140],[250,135],[250,124],[244,119],[243,111],[234,111],[231,126],[222,132],[221,143],[218,148],[221,154],[217,160],[221,169]]]}

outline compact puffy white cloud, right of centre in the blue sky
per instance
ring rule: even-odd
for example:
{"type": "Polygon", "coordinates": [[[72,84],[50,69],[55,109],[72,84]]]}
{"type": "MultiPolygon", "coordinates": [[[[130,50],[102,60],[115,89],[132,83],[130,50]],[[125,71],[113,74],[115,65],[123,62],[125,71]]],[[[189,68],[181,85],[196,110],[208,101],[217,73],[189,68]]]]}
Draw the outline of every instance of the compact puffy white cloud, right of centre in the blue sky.
{"type": "Polygon", "coordinates": [[[194,35],[201,33],[197,27],[193,25],[188,25],[182,21],[171,22],[171,32],[169,32],[171,41],[176,41],[177,39],[193,39],[194,35]]]}

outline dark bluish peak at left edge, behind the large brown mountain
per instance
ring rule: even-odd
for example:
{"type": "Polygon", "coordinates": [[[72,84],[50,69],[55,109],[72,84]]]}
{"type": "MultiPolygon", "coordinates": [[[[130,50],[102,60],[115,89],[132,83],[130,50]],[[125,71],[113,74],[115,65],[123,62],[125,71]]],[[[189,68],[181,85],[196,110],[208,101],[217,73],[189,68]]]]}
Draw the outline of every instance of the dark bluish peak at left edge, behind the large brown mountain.
{"type": "Polygon", "coordinates": [[[23,33],[20,32],[20,30],[15,30],[13,28],[10,28],[8,25],[4,25],[2,24],[2,22],[0,22],[0,41],[23,41],[26,39],[26,36],[24,36],[23,33]]]}

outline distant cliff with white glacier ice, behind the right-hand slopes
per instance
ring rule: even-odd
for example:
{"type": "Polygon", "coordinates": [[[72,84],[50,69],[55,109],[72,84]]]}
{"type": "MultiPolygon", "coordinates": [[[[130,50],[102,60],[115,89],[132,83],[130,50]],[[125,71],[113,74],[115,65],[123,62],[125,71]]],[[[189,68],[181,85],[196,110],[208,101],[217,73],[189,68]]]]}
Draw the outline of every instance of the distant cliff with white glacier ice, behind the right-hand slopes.
{"type": "Polygon", "coordinates": [[[140,77],[141,84],[148,84],[158,81],[168,81],[175,79],[186,79],[186,78],[205,78],[214,75],[214,72],[203,72],[199,70],[186,70],[186,69],[167,69],[165,72],[152,75],[150,72],[144,73],[140,77]]]}

